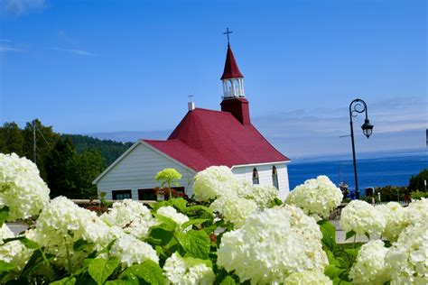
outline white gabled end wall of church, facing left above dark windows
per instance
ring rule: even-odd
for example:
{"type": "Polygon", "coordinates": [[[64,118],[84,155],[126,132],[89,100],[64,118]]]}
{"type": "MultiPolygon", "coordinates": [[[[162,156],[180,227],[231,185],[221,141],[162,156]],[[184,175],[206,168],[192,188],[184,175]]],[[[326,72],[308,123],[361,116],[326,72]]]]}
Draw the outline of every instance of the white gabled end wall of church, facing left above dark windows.
{"type": "Polygon", "coordinates": [[[190,197],[193,193],[191,181],[194,171],[154,151],[143,142],[128,152],[122,160],[98,179],[98,192],[106,192],[107,199],[112,199],[113,190],[131,189],[132,198],[138,199],[138,189],[159,186],[154,177],[157,172],[165,168],[173,168],[181,173],[180,186],[185,188],[186,194],[190,197]]]}

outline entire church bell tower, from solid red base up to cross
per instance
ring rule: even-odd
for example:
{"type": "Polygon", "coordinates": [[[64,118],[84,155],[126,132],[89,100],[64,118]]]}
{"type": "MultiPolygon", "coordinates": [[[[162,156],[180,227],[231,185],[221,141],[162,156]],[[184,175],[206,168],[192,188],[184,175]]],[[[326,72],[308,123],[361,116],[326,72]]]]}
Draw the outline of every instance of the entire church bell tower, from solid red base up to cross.
{"type": "MultiPolygon", "coordinates": [[[[227,29],[224,34],[232,33],[227,29]]],[[[226,53],[225,69],[221,76],[223,82],[223,101],[221,101],[221,111],[229,112],[244,125],[251,124],[249,117],[248,101],[244,92],[244,76],[237,67],[237,60],[230,48],[228,37],[228,51],[226,53]]]]}

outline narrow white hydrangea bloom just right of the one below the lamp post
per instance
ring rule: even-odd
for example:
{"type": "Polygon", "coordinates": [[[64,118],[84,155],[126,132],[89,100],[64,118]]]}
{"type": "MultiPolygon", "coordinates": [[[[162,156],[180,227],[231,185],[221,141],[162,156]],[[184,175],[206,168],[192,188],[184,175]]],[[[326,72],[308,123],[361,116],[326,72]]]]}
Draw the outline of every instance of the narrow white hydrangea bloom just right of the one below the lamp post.
{"type": "Polygon", "coordinates": [[[382,238],[391,242],[395,242],[398,235],[407,226],[405,220],[405,208],[397,202],[389,202],[387,204],[376,207],[377,211],[382,213],[386,218],[386,226],[382,233],[382,238]]]}

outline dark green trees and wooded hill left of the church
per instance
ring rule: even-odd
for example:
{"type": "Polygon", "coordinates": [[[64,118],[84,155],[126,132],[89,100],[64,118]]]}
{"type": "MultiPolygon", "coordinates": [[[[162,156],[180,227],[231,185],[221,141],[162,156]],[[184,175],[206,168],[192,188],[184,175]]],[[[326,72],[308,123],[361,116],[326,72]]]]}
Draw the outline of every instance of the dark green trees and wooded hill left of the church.
{"type": "Polygon", "coordinates": [[[16,153],[36,161],[42,179],[51,188],[51,198],[94,198],[92,181],[132,142],[99,140],[80,134],[60,134],[38,119],[23,128],[14,122],[0,127],[0,152],[16,153]],[[35,155],[34,155],[35,129],[35,155]]]}

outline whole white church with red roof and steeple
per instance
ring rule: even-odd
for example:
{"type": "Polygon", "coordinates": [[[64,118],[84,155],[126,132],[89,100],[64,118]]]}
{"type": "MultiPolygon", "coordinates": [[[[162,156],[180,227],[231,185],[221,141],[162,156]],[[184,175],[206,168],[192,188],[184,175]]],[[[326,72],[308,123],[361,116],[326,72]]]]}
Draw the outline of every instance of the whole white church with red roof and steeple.
{"type": "Polygon", "coordinates": [[[251,124],[244,77],[228,44],[221,77],[221,111],[195,108],[189,111],[165,141],[138,140],[97,179],[98,193],[107,199],[156,199],[156,173],[174,168],[182,174],[177,191],[191,197],[194,175],[214,165],[226,165],[238,179],[253,184],[274,185],[279,196],[289,193],[287,162],[251,124]]]}

